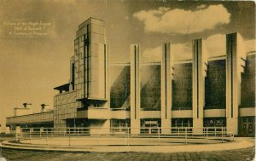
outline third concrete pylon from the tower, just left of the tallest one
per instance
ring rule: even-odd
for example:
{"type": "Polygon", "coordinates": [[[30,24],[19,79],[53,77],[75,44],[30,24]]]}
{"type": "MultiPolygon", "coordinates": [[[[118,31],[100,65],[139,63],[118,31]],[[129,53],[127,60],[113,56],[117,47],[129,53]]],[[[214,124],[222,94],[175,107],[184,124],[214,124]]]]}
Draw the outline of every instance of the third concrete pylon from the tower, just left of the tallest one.
{"type": "Polygon", "coordinates": [[[207,50],[202,39],[193,40],[193,133],[201,134],[203,107],[205,106],[205,77],[207,76],[207,50]]]}

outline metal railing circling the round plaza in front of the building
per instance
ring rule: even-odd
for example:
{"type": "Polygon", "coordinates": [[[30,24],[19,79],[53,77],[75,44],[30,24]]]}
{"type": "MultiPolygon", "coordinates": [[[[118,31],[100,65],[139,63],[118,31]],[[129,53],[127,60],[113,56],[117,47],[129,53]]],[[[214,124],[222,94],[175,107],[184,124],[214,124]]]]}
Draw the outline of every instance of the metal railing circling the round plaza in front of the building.
{"type": "Polygon", "coordinates": [[[233,141],[224,127],[198,128],[21,128],[16,141],[47,146],[131,146],[233,141]]]}

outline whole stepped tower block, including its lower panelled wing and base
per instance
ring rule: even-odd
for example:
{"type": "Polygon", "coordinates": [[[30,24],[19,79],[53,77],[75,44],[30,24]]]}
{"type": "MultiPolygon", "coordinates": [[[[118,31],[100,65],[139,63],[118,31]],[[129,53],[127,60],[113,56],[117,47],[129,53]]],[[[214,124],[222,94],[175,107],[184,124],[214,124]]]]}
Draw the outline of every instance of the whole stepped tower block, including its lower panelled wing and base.
{"type": "Polygon", "coordinates": [[[55,95],[55,127],[87,127],[95,118],[104,118],[99,124],[109,126],[108,45],[104,41],[103,20],[89,18],[79,25],[69,83],[55,88],[60,91],[55,95]]]}

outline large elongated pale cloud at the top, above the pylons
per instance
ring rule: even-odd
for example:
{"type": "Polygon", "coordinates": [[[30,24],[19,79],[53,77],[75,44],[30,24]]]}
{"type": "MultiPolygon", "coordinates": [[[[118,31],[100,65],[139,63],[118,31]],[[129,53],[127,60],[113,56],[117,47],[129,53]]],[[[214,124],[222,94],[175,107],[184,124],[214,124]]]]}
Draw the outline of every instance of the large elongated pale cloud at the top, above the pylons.
{"type": "Polygon", "coordinates": [[[222,4],[207,8],[199,6],[194,11],[170,8],[142,10],[133,16],[144,23],[145,32],[186,34],[212,30],[230,23],[230,13],[222,4]]]}

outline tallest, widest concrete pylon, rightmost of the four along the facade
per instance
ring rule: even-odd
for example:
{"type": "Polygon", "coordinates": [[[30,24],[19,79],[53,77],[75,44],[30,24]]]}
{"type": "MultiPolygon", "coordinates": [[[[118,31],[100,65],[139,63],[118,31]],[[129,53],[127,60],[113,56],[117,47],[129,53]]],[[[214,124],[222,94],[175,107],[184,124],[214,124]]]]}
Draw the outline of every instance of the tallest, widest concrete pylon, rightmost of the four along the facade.
{"type": "Polygon", "coordinates": [[[237,33],[226,35],[226,118],[227,132],[238,134],[238,106],[241,102],[241,72],[246,52],[237,33]]]}

